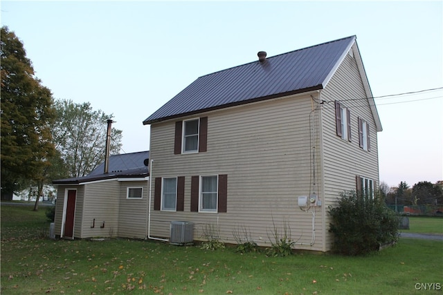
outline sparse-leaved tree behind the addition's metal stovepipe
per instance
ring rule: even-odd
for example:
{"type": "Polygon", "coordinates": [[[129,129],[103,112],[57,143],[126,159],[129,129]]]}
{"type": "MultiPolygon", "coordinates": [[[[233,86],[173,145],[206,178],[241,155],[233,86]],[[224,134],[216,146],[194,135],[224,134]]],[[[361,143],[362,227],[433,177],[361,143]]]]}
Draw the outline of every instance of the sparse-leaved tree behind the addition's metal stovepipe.
{"type": "MultiPolygon", "coordinates": [[[[89,102],[76,104],[71,100],[57,100],[55,111],[55,147],[66,165],[66,170],[60,173],[73,178],[89,174],[105,159],[107,120],[113,116],[100,110],[93,111],[89,102]]],[[[113,128],[111,153],[120,151],[121,138],[122,131],[113,128]]]]}

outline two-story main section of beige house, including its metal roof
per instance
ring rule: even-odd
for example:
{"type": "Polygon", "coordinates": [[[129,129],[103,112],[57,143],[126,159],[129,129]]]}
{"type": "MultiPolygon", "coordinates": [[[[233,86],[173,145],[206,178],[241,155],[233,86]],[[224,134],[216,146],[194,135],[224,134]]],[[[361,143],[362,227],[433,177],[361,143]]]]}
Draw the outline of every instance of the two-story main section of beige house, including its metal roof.
{"type": "Polygon", "coordinates": [[[181,220],[194,225],[194,240],[269,246],[286,229],[296,249],[328,251],[328,206],[343,191],[372,194],[379,182],[381,122],[355,36],[273,57],[261,51],[199,77],[143,124],[152,196],[149,211],[132,217],[136,225],[149,214],[156,238],[170,239],[181,220]]]}

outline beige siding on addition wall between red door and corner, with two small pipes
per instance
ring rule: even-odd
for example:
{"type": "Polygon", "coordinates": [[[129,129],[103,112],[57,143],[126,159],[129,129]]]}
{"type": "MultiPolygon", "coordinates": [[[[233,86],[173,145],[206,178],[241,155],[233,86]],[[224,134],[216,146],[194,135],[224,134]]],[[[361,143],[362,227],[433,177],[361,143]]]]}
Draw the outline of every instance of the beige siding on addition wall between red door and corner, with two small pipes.
{"type": "Polygon", "coordinates": [[[85,196],[82,216],[82,235],[80,238],[115,237],[118,231],[118,194],[120,184],[117,180],[84,184],[85,196]],[[93,220],[96,220],[95,227],[93,220]],[[101,227],[105,224],[105,227],[101,227]]]}

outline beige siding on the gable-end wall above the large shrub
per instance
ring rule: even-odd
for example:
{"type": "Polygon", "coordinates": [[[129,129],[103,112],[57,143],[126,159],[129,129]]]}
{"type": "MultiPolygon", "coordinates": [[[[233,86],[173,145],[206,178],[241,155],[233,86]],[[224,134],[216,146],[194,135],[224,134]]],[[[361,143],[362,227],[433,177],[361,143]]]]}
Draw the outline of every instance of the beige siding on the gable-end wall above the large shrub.
{"type": "MultiPolygon", "coordinates": [[[[325,207],[334,206],[343,191],[356,189],[356,175],[372,178],[379,183],[377,131],[368,99],[364,97],[365,89],[356,61],[347,55],[321,93],[321,98],[329,102],[322,110],[325,207]],[[350,109],[352,142],[336,135],[335,100],[350,109]],[[358,117],[370,124],[370,151],[359,147],[358,117]]],[[[329,225],[327,214],[325,225],[329,225]]],[[[325,247],[328,248],[332,236],[327,231],[325,234],[325,247]]]]}

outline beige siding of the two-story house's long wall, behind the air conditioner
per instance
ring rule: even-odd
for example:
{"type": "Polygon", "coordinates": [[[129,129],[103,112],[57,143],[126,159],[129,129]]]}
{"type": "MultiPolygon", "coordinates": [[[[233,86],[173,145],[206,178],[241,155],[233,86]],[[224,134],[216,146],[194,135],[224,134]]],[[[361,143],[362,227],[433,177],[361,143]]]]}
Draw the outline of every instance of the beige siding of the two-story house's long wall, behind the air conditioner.
{"type": "MultiPolygon", "coordinates": [[[[153,191],[155,178],[186,179],[184,211],[152,211],[151,236],[168,238],[170,221],[187,220],[195,222],[195,240],[211,223],[225,242],[235,242],[233,231],[246,228],[255,242],[269,246],[274,225],[282,230],[286,223],[293,240],[311,242],[312,214],[298,207],[298,196],[307,196],[311,184],[310,113],[311,97],[304,95],[201,114],[208,116],[208,150],[187,155],[174,155],[173,121],[152,124],[153,191]],[[228,175],[227,213],[190,212],[191,176],[217,174],[228,175]]],[[[318,231],[320,221],[316,216],[318,231]]],[[[314,247],[298,248],[321,245],[318,236],[314,247]]]]}

